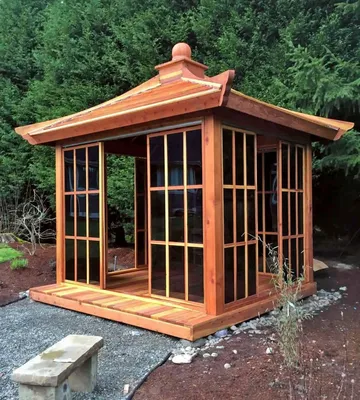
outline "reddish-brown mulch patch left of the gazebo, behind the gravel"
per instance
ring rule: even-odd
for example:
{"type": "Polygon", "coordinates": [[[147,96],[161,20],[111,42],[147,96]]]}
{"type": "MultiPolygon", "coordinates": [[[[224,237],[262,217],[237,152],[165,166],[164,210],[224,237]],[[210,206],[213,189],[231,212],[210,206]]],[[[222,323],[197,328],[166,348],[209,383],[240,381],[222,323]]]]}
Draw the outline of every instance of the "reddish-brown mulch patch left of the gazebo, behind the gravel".
{"type": "Polygon", "coordinates": [[[18,299],[19,292],[56,281],[55,245],[44,245],[44,248],[38,246],[33,256],[19,244],[9,246],[23,252],[28,266],[12,271],[9,261],[0,263],[0,306],[18,299]]]}

